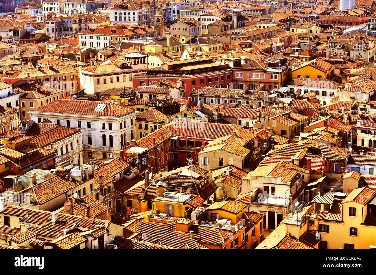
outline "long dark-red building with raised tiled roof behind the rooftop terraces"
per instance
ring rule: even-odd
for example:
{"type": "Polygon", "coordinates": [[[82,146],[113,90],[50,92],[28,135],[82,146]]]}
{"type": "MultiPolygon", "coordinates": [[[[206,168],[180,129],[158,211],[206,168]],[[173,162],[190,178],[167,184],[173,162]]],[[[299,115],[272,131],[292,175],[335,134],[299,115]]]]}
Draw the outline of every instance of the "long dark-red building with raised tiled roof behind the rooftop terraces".
{"type": "Polygon", "coordinates": [[[132,77],[133,87],[149,85],[149,81],[162,79],[181,81],[180,99],[188,99],[189,93],[206,86],[229,87],[232,72],[229,65],[219,65],[210,57],[165,62],[161,67],[147,69],[132,77]]]}

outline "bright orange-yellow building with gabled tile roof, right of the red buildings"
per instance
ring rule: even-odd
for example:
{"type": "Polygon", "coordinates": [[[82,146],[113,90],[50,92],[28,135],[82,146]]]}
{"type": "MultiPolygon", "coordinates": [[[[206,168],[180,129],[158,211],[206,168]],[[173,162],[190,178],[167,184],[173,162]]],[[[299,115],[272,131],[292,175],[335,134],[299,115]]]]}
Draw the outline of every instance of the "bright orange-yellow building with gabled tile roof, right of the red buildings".
{"type": "Polygon", "coordinates": [[[297,78],[318,78],[325,77],[332,79],[334,77],[334,65],[322,59],[314,59],[303,63],[299,67],[291,70],[291,80],[297,78]]]}

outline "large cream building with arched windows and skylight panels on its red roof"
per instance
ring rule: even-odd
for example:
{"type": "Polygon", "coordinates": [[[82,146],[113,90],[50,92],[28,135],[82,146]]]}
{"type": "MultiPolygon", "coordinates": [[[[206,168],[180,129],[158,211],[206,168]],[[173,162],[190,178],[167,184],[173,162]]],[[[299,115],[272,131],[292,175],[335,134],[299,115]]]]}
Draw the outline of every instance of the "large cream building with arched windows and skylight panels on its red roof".
{"type": "Polygon", "coordinates": [[[59,99],[30,111],[32,120],[82,129],[83,163],[112,159],[134,138],[136,111],[111,102],[59,99]]]}

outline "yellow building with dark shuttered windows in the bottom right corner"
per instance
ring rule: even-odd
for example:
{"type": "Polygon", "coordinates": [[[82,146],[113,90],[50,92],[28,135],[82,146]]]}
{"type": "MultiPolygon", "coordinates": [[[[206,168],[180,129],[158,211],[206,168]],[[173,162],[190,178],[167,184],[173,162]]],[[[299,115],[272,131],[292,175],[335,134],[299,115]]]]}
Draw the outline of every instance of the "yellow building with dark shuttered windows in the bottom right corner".
{"type": "Polygon", "coordinates": [[[319,216],[321,249],[368,249],[376,245],[376,191],[327,192],[312,200],[319,216]]]}

